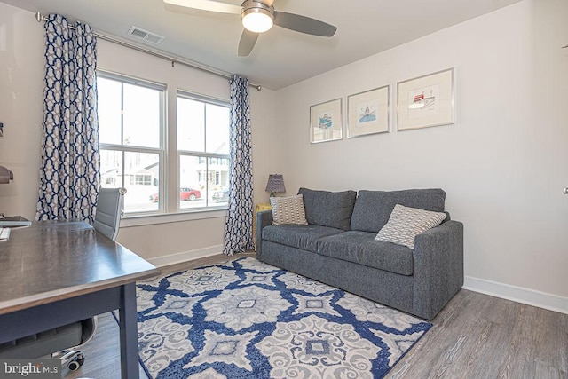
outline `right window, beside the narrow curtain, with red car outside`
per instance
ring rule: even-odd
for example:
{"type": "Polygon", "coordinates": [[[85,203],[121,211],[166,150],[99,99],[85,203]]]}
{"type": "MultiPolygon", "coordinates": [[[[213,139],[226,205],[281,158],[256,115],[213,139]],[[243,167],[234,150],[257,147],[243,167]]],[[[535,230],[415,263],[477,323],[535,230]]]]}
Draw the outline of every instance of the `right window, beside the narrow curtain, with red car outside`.
{"type": "Polygon", "coordinates": [[[229,104],[177,92],[180,209],[227,205],[229,186],[229,104]],[[189,200],[189,201],[187,201],[189,200]]]}

